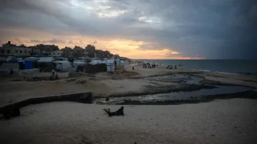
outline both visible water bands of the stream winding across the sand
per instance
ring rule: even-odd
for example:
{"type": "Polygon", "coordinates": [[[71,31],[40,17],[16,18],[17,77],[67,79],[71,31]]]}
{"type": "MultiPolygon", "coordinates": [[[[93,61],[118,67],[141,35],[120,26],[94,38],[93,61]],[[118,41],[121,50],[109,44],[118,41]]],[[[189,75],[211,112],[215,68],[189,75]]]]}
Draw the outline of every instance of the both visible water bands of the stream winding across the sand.
{"type": "MultiPolygon", "coordinates": [[[[146,77],[147,80],[157,82],[178,82],[182,84],[201,84],[201,77],[189,76],[186,74],[171,74],[163,76],[146,77]]],[[[192,98],[198,98],[201,96],[211,96],[216,94],[232,94],[237,92],[250,91],[249,87],[241,86],[216,86],[214,89],[200,89],[192,92],[171,92],[168,94],[148,94],[143,96],[126,96],[126,97],[114,97],[109,101],[105,99],[96,99],[95,104],[116,104],[124,102],[129,99],[131,101],[165,101],[165,100],[186,100],[192,98]]]]}

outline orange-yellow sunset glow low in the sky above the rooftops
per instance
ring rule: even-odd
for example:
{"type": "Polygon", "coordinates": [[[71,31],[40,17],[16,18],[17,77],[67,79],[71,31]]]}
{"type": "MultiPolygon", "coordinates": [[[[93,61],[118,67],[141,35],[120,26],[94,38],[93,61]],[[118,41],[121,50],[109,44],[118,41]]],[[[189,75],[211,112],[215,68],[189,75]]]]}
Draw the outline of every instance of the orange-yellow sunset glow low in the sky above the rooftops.
{"type": "Polygon", "coordinates": [[[30,31],[21,29],[5,29],[8,33],[15,33],[16,38],[6,37],[0,40],[1,44],[11,40],[11,43],[16,45],[24,44],[37,45],[54,44],[58,45],[59,49],[64,47],[74,48],[75,45],[85,48],[86,45],[92,44],[96,46],[96,49],[109,50],[114,54],[119,54],[122,57],[129,57],[131,59],[181,59],[181,60],[203,60],[203,57],[183,57],[179,51],[172,50],[172,48],[141,48],[143,45],[151,45],[151,42],[133,41],[120,38],[104,38],[104,37],[92,37],[81,35],[54,35],[50,33],[44,33],[43,31],[30,31]],[[26,35],[24,35],[26,33],[26,35]],[[50,40],[58,40],[56,43],[49,43],[50,40]],[[35,40],[40,40],[35,42],[35,40]],[[95,42],[95,43],[91,43],[95,42]],[[96,43],[97,42],[97,43],[96,43]]]}

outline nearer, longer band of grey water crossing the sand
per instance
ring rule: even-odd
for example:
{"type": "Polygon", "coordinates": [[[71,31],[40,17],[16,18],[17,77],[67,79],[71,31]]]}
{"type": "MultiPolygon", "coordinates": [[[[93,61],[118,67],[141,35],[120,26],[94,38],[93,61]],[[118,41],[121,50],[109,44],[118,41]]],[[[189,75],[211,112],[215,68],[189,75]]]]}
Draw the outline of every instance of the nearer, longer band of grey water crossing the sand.
{"type": "Polygon", "coordinates": [[[209,96],[216,94],[231,94],[236,92],[250,91],[251,88],[240,87],[240,86],[218,86],[215,89],[201,89],[193,92],[171,92],[170,94],[153,94],[145,96],[126,96],[126,97],[115,97],[109,101],[105,99],[96,99],[95,104],[116,104],[124,102],[125,99],[132,101],[164,101],[164,100],[185,100],[191,99],[191,97],[197,98],[200,96],[209,96]]]}

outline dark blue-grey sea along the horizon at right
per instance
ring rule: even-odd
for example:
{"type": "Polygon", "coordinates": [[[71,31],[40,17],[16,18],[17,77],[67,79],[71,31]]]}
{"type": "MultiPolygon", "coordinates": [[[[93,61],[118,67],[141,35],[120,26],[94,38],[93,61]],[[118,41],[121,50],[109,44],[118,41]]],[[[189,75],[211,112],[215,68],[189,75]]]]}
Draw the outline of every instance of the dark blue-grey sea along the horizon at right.
{"type": "Polygon", "coordinates": [[[209,72],[248,74],[257,76],[257,60],[140,60],[161,65],[182,65],[179,67],[209,72]]]}

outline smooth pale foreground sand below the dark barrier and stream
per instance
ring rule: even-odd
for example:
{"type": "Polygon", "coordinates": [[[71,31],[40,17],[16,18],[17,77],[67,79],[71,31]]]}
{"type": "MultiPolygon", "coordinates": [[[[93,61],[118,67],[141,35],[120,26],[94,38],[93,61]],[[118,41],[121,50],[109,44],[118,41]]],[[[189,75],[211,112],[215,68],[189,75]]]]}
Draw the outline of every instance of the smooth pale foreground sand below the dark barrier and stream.
{"type": "Polygon", "coordinates": [[[173,106],[53,102],[26,106],[0,120],[1,143],[257,143],[257,100],[229,99],[173,106]]]}

